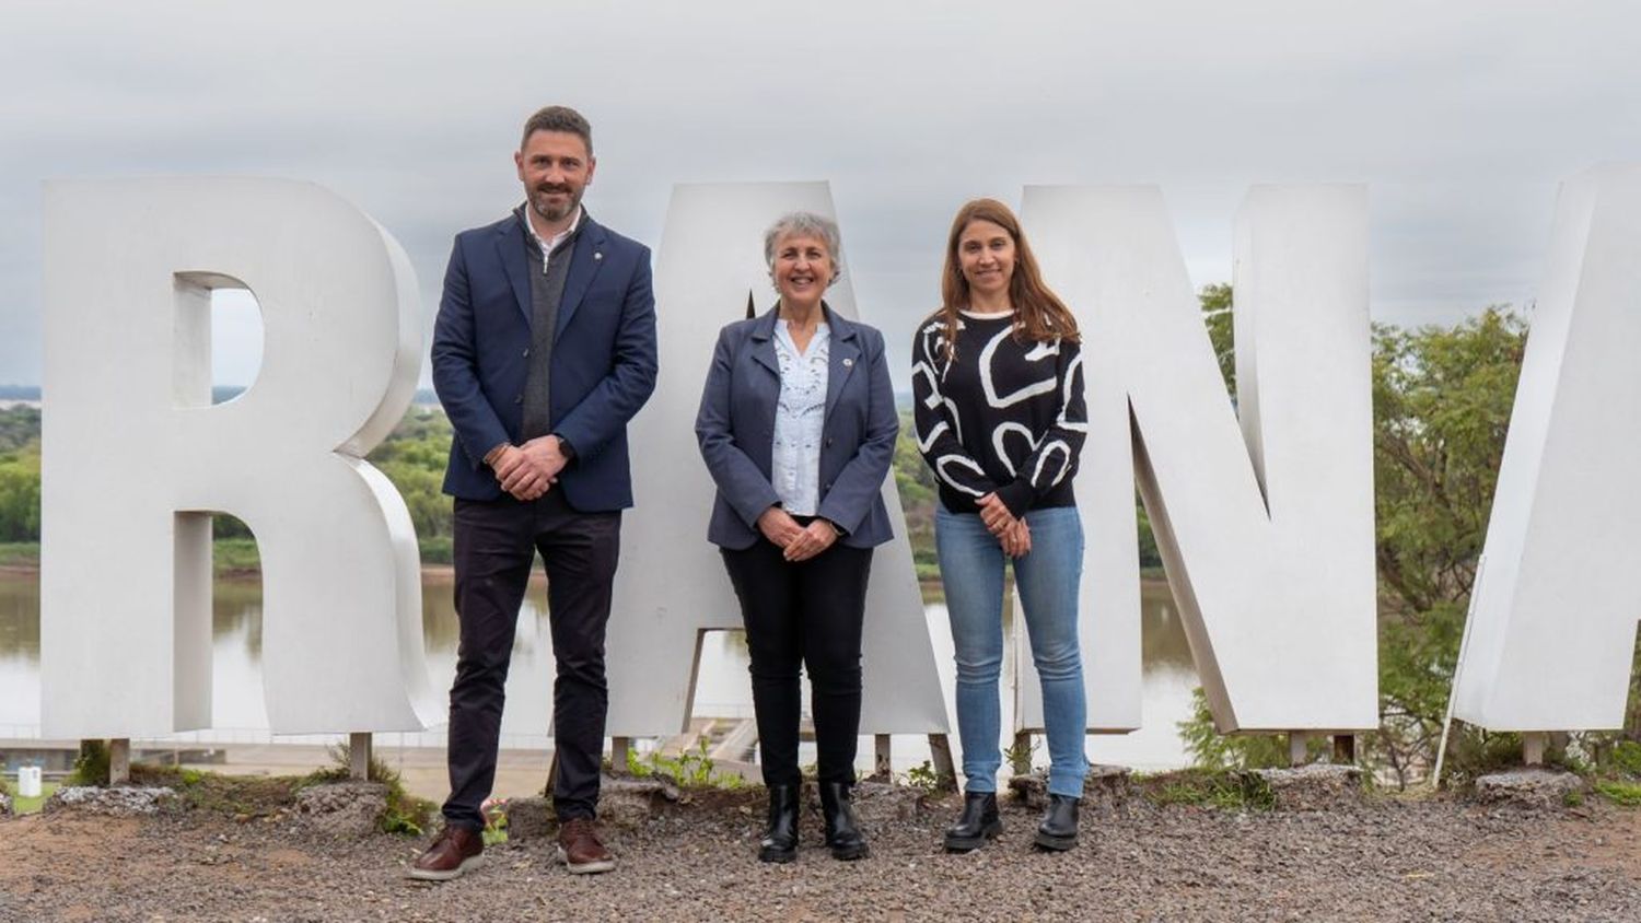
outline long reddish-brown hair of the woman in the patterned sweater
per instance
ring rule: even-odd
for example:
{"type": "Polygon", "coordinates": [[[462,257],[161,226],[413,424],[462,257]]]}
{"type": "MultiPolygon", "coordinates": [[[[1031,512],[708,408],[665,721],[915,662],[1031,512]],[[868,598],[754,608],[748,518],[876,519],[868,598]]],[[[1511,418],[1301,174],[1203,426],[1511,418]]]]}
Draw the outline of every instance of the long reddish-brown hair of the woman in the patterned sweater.
{"type": "Polygon", "coordinates": [[[1078,343],[1076,318],[1065,302],[1042,280],[1037,257],[1026,243],[1019,218],[996,198],[975,198],[957,210],[952,234],[945,243],[945,272],[940,277],[940,320],[945,323],[945,357],[957,354],[957,313],[970,307],[968,279],[957,246],[971,221],[991,221],[1014,239],[1014,275],[1009,279],[1009,302],[1014,305],[1014,338],[1044,343],[1067,339],[1078,343]]]}

